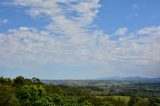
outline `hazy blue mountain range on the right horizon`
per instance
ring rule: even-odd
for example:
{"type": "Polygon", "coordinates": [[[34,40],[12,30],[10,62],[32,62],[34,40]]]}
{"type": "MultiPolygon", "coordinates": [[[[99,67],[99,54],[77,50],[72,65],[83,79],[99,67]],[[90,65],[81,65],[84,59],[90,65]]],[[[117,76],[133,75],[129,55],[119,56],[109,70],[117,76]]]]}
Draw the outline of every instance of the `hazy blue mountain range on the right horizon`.
{"type": "Polygon", "coordinates": [[[144,81],[144,82],[160,82],[160,77],[145,78],[145,77],[106,77],[98,78],[97,80],[113,80],[113,81],[144,81]]]}

